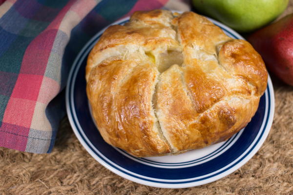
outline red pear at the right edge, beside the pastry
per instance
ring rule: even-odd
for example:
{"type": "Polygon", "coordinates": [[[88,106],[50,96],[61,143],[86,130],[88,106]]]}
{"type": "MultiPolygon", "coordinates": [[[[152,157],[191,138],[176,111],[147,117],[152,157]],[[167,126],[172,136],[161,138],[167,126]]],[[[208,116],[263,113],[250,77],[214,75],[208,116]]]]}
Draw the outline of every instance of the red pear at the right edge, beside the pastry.
{"type": "Polygon", "coordinates": [[[267,68],[293,85],[293,14],[256,31],[248,40],[267,68]]]}

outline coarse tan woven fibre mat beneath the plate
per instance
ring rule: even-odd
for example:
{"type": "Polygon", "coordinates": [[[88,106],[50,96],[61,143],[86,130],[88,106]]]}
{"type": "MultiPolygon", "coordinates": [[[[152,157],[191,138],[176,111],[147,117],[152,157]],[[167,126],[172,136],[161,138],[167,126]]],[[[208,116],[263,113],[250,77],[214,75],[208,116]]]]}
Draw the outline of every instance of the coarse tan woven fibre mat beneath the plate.
{"type": "MultiPolygon", "coordinates": [[[[282,15],[293,13],[293,0],[282,15]]],[[[0,148],[0,195],[293,195],[293,87],[272,76],[275,114],[269,137],[243,167],[186,189],[148,187],[115,175],[79,143],[65,117],[51,154],[0,148]]]]}

